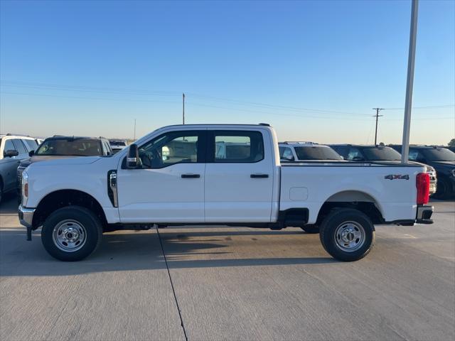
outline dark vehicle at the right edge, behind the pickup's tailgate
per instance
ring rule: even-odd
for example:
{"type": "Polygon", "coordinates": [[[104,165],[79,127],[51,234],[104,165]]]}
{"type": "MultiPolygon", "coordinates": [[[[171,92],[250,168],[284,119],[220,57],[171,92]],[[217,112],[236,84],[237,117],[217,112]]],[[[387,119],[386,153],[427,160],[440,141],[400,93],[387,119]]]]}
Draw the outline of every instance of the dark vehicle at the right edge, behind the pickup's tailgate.
{"type": "MultiPolygon", "coordinates": [[[[390,145],[401,151],[400,145],[390,145]]],[[[455,194],[455,153],[438,146],[410,145],[410,161],[432,166],[437,173],[438,185],[434,197],[446,199],[455,194]]]]}

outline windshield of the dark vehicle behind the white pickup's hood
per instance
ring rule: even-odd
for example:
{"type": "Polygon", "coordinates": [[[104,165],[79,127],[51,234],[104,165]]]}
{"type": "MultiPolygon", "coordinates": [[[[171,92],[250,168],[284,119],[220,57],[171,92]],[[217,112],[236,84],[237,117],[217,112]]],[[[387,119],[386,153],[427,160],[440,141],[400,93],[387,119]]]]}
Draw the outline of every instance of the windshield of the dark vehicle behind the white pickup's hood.
{"type": "Polygon", "coordinates": [[[100,141],[94,139],[49,139],[35,155],[47,156],[102,156],[100,141]]]}

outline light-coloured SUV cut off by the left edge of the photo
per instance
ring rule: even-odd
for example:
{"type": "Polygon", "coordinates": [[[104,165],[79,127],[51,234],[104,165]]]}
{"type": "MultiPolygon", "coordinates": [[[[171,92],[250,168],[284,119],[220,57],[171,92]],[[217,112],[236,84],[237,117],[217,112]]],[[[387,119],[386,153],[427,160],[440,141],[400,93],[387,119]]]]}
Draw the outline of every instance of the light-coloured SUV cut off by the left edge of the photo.
{"type": "Polygon", "coordinates": [[[16,188],[16,169],[36,147],[31,137],[0,135],[0,202],[4,193],[16,188]]]}

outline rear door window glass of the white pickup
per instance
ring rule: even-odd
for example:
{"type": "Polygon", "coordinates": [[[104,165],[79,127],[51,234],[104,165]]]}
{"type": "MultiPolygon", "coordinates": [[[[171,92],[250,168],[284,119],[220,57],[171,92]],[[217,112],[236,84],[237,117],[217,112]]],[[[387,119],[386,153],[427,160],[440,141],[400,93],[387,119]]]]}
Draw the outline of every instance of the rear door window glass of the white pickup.
{"type": "Polygon", "coordinates": [[[215,162],[257,162],[264,158],[259,131],[216,131],[215,162]]]}

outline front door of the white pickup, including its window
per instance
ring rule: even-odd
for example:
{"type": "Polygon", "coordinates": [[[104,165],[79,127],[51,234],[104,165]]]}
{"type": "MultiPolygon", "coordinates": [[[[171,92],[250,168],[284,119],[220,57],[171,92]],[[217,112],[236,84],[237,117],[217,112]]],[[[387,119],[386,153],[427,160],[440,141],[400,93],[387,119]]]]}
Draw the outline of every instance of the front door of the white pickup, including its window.
{"type": "Polygon", "coordinates": [[[139,145],[141,166],[117,172],[124,223],[204,222],[205,131],[170,131],[139,145]]]}

